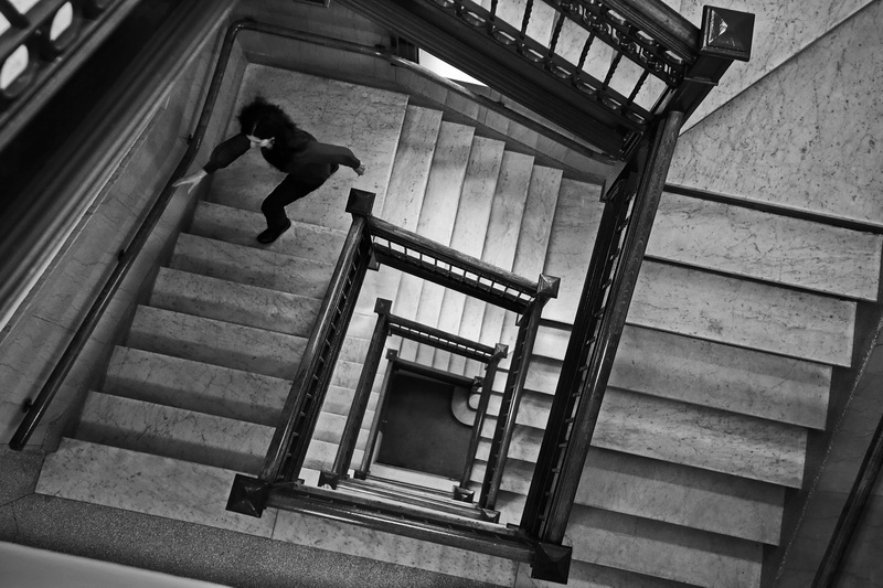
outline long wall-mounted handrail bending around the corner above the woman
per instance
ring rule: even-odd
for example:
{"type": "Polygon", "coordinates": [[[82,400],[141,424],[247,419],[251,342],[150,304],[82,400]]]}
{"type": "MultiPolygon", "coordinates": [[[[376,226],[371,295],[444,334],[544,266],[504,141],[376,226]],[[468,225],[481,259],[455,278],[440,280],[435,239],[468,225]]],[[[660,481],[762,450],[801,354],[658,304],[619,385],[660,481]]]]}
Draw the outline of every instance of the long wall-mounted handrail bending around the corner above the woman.
{"type": "Polygon", "coordinates": [[[570,149],[577,151],[583,156],[596,160],[602,160],[605,162],[610,161],[608,158],[606,158],[606,156],[599,156],[595,151],[587,149],[585,146],[554,130],[547,129],[543,125],[528,117],[524,117],[523,115],[520,115],[514,110],[511,110],[510,108],[506,107],[504,105],[498,101],[480,96],[469,90],[468,88],[465,88],[459,84],[455,84],[439,76],[438,74],[429,72],[428,70],[413,62],[408,62],[407,60],[392,55],[383,49],[369,47],[364,45],[359,45],[357,43],[351,43],[349,41],[341,41],[338,39],[322,36],[313,33],[292,31],[285,29],[283,26],[260,23],[253,19],[242,19],[236,22],[233,22],[227,26],[227,30],[224,33],[224,41],[223,44],[221,45],[221,51],[217,56],[217,63],[215,64],[215,70],[212,75],[212,79],[209,84],[209,92],[203,103],[199,121],[193,131],[193,135],[191,136],[190,143],[188,145],[188,149],[184,152],[183,157],[181,158],[181,162],[178,164],[174,172],[172,172],[162,192],[160,192],[159,196],[153,203],[153,206],[150,209],[150,212],[147,214],[140,227],[138,228],[131,242],[129,243],[129,246],[126,247],[124,253],[119,256],[117,266],[114,268],[114,271],[107,278],[105,286],[96,296],[95,301],[93,302],[88,312],[86,313],[79,327],[77,328],[76,332],[74,333],[74,336],[71,339],[71,342],[67,344],[64,352],[62,353],[49,378],[43,384],[43,387],[41,388],[36,398],[32,402],[30,400],[26,404],[28,413],[25,414],[24,419],[22,420],[22,423],[20,424],[19,428],[17,429],[15,434],[12,436],[9,442],[9,447],[11,449],[17,451],[22,450],[26,445],[28,439],[31,438],[34,430],[36,429],[36,426],[39,425],[40,420],[45,416],[49,406],[52,403],[55,395],[57,394],[58,389],[61,388],[64,378],[71,372],[71,368],[73,367],[76,357],[85,348],[88,338],[92,335],[93,331],[97,327],[98,321],[100,320],[104,311],[107,310],[107,307],[110,303],[113,296],[119,289],[119,286],[123,284],[123,280],[128,274],[129,269],[134,266],[135,260],[140,254],[141,249],[143,248],[143,245],[147,243],[150,233],[159,223],[160,217],[166,211],[166,207],[169,204],[172,194],[174,193],[174,188],[172,186],[172,184],[178,179],[183,177],[184,173],[190,168],[190,165],[193,163],[196,153],[202,147],[202,141],[205,137],[205,130],[208,129],[210,117],[214,110],[214,106],[221,90],[221,83],[223,82],[224,73],[226,72],[226,66],[230,61],[230,55],[233,49],[233,42],[235,41],[240,32],[246,30],[274,34],[278,36],[285,36],[288,39],[319,44],[330,49],[339,49],[351,53],[359,53],[362,55],[383,58],[394,66],[406,68],[411,72],[414,72],[421,76],[424,76],[433,81],[434,83],[444,85],[447,89],[456,92],[457,94],[460,94],[461,96],[470,100],[474,100],[480,104],[481,106],[485,106],[499,114],[502,114],[532,130],[542,132],[546,137],[562,145],[565,145],[570,149]]]}

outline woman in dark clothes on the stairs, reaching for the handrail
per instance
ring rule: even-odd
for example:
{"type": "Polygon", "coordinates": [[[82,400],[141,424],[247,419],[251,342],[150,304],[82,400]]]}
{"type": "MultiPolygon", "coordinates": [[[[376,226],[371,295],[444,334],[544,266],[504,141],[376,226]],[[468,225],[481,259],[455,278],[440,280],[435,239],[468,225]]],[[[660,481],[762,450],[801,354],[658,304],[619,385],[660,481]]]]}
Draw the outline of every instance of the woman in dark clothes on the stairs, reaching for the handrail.
{"type": "Polygon", "coordinates": [[[259,147],[267,162],[288,175],[264,199],[260,211],[267,229],[257,235],[260,243],[273,243],[288,231],[291,221],[285,206],[321,186],[340,165],[362,175],[365,167],[345,147],[321,143],[297,125],[275,104],[257,97],[240,110],[240,133],[220,143],[209,162],[198,172],[174,182],[191,191],[203,178],[226,168],[252,147],[259,147]]]}

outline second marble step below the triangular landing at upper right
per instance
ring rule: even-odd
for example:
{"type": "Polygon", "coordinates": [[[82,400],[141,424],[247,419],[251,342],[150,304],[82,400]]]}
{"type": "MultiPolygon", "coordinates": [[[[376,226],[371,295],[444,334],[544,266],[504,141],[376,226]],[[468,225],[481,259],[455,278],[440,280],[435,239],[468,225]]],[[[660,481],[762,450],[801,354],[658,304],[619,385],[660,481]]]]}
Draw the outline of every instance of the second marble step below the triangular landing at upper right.
{"type": "Polygon", "coordinates": [[[628,322],[792,357],[849,365],[855,303],[645,261],[628,322]]]}

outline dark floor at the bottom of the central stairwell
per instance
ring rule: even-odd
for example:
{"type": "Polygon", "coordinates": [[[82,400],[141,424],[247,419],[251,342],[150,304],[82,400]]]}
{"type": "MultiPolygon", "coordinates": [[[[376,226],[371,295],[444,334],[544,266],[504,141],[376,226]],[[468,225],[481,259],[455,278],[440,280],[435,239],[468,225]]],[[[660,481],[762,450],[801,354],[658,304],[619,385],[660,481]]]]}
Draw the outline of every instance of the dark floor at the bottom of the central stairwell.
{"type": "Polygon", "coordinates": [[[456,480],[462,471],[471,427],[451,410],[467,384],[435,378],[405,368],[390,377],[376,461],[386,466],[456,480]]]}

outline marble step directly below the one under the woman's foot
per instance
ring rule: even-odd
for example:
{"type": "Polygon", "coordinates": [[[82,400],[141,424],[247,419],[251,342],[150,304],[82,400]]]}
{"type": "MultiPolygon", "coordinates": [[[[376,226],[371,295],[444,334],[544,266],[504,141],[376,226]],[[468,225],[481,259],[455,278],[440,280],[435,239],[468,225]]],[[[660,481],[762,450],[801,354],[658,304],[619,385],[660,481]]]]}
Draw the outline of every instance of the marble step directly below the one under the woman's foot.
{"type": "Polygon", "coordinates": [[[309,298],[325,297],[334,269],[332,264],[325,261],[185,233],[179,236],[169,265],[172,269],[309,298]]]}

